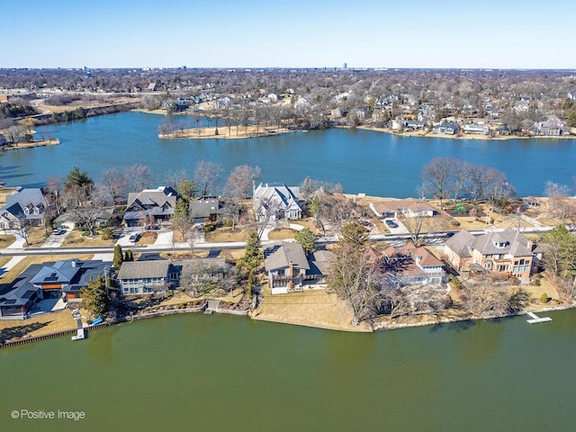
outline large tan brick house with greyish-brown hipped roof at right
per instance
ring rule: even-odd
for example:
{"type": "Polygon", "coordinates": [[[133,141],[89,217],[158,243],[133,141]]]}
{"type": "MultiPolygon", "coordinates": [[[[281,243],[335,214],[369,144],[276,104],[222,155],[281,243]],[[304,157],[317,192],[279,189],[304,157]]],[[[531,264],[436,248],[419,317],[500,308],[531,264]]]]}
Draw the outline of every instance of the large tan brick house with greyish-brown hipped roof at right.
{"type": "Polygon", "coordinates": [[[543,251],[518,229],[491,231],[474,237],[458,231],[446,240],[445,253],[459,272],[469,272],[474,265],[485,271],[529,278],[538,268],[543,251]]]}

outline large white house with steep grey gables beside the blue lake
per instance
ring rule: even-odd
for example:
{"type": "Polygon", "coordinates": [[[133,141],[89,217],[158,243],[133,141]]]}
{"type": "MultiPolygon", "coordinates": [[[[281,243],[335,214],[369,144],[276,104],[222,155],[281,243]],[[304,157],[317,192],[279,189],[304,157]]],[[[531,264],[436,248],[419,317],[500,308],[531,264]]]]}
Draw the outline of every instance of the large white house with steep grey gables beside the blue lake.
{"type": "Polygon", "coordinates": [[[254,212],[260,216],[271,214],[272,220],[302,219],[303,204],[298,199],[300,188],[284,183],[259,184],[253,193],[254,212]]]}

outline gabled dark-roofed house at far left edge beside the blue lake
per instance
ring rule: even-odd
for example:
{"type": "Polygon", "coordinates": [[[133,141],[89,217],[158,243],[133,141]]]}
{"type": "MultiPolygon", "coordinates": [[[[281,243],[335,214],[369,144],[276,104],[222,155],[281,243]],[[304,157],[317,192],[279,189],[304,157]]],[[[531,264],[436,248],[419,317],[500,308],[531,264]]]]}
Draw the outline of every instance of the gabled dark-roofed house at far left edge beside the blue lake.
{"type": "Polygon", "coordinates": [[[0,229],[22,229],[24,225],[43,226],[48,202],[40,188],[22,189],[6,196],[0,209],[0,229]]]}

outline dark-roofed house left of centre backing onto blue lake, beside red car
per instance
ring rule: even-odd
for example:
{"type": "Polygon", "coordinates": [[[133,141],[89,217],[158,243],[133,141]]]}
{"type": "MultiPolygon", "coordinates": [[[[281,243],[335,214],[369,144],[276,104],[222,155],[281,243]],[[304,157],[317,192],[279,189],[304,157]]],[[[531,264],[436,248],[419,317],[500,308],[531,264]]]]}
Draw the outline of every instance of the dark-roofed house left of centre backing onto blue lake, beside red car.
{"type": "Polygon", "coordinates": [[[157,189],[144,189],[142,192],[128,194],[128,204],[123,221],[128,227],[160,224],[169,220],[176,206],[177,193],[169,186],[157,189]]]}

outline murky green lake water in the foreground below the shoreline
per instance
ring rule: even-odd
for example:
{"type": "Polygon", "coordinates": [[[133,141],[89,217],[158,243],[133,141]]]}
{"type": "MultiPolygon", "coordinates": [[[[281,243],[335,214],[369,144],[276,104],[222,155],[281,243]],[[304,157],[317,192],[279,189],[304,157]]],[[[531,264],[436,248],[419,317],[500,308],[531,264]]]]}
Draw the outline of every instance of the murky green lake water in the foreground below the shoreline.
{"type": "Polygon", "coordinates": [[[0,350],[0,430],[572,432],[576,313],[547,315],[356,334],[192,314],[51,339],[0,350]]]}

